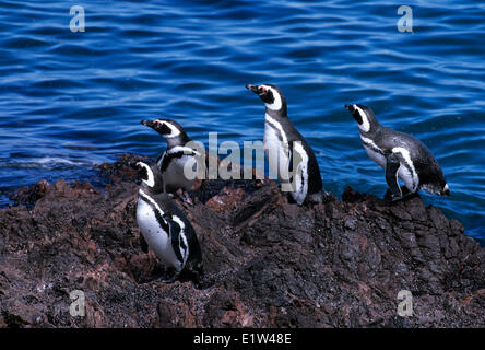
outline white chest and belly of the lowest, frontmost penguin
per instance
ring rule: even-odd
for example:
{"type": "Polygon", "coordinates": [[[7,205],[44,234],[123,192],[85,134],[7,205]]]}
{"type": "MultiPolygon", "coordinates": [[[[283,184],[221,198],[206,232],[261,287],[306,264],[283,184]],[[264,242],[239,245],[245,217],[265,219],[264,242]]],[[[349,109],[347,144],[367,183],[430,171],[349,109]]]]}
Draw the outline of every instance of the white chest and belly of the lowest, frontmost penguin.
{"type": "Polygon", "coordinates": [[[158,223],[155,211],[145,200],[139,198],[137,205],[137,223],[150,248],[166,265],[181,269],[181,264],[175,255],[168,232],[158,223]]]}

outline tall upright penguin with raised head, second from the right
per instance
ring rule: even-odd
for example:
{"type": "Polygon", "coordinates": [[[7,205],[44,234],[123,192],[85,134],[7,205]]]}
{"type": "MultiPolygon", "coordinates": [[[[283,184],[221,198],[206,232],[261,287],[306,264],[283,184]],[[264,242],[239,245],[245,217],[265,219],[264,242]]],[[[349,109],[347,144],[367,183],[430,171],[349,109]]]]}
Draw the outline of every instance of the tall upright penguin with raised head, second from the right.
{"type": "Polygon", "coordinates": [[[280,88],[247,84],[246,89],[257,94],[265,105],[264,152],[270,168],[282,184],[282,190],[289,191],[298,205],[305,200],[321,201],[322,182],[317,159],[289,120],[286,98],[280,88]]]}

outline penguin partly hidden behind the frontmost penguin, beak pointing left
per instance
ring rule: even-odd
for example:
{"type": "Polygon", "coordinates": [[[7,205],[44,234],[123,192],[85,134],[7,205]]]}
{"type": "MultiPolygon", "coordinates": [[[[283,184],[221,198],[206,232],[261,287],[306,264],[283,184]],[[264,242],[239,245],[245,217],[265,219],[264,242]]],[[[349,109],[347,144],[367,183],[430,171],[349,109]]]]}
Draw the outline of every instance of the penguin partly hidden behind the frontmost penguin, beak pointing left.
{"type": "Polygon", "coordinates": [[[175,192],[179,188],[191,189],[196,178],[188,178],[184,168],[188,162],[192,164],[194,172],[199,166],[198,151],[187,147],[192,139],[177,121],[171,119],[142,120],[141,124],[151,127],[167,140],[167,149],[156,160],[164,191],[175,192]]]}

